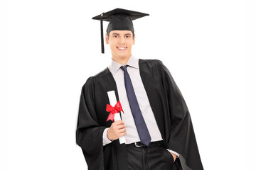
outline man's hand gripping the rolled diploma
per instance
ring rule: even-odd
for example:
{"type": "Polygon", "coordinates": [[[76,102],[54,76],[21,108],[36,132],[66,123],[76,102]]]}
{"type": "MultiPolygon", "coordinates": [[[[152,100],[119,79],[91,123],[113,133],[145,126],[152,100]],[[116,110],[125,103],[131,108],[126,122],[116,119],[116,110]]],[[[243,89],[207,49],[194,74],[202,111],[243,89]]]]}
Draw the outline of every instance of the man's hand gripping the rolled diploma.
{"type": "Polygon", "coordinates": [[[125,128],[126,128],[126,125],[124,125],[124,121],[122,120],[115,121],[107,130],[107,138],[109,140],[117,140],[119,137],[122,137],[127,134],[125,128]]]}

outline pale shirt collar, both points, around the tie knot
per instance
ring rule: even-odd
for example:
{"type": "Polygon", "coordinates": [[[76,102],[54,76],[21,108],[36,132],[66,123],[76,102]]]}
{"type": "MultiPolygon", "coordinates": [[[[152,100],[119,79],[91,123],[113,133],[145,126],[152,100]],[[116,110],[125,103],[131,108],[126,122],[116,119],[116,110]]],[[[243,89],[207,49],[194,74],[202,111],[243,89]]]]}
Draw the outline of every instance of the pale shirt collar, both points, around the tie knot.
{"type": "MultiPolygon", "coordinates": [[[[129,58],[127,65],[129,65],[130,67],[134,67],[136,69],[139,69],[139,59],[135,58],[133,55],[129,58]]],[[[116,74],[117,71],[120,69],[120,67],[122,66],[122,64],[119,64],[118,62],[115,62],[114,60],[112,60],[110,66],[108,67],[110,69],[110,72],[112,73],[112,75],[116,74]]]]}

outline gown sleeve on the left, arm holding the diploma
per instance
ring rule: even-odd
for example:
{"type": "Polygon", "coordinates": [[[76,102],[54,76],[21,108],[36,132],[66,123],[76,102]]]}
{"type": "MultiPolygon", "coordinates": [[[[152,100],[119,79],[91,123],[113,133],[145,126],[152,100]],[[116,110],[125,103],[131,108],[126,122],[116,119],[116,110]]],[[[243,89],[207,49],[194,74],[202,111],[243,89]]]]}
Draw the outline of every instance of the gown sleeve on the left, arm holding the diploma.
{"type": "Polygon", "coordinates": [[[95,111],[94,77],[87,79],[80,96],[76,142],[82,148],[88,169],[102,170],[103,146],[102,135],[106,127],[100,126],[95,111]]]}

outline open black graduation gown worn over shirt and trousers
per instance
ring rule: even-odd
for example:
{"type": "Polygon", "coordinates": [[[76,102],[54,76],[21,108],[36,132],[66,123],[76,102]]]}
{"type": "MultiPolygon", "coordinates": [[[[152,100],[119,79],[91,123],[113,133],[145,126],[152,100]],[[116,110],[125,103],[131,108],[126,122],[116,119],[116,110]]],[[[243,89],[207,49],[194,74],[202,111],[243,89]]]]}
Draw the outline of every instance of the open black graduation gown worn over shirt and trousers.
{"type": "MultiPolygon", "coordinates": [[[[181,154],[183,169],[202,170],[203,165],[193,132],[190,113],[171,73],[159,60],[139,60],[139,71],[156,123],[166,149],[181,154]]],[[[87,79],[82,86],[76,142],[82,148],[89,170],[125,170],[125,145],[114,140],[102,146],[102,134],[112,121],[106,121],[107,91],[117,86],[109,69],[87,79]]],[[[122,103],[122,101],[121,101],[122,103]]]]}

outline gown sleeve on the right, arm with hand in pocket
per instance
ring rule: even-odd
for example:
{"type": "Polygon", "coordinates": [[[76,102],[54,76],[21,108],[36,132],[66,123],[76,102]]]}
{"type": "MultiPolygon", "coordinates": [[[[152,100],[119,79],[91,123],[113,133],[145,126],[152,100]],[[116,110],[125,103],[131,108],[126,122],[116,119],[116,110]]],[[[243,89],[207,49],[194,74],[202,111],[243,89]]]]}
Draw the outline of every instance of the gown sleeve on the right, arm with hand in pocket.
{"type": "Polygon", "coordinates": [[[180,154],[183,169],[203,170],[196,136],[193,131],[191,115],[186,102],[178,89],[169,69],[159,61],[164,81],[164,90],[169,101],[169,112],[171,114],[171,135],[168,146],[180,154]]]}

